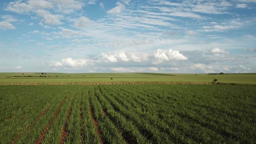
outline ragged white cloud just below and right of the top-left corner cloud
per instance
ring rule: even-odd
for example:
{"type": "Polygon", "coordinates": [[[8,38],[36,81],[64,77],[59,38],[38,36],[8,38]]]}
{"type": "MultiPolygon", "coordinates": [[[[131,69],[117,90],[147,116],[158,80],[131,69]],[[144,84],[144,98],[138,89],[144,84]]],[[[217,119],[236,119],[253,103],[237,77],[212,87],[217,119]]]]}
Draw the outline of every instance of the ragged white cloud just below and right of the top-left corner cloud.
{"type": "Polygon", "coordinates": [[[36,10],[37,15],[42,17],[42,21],[49,25],[60,25],[63,24],[63,22],[60,21],[60,19],[63,19],[62,15],[54,15],[46,10],[36,10]]]}

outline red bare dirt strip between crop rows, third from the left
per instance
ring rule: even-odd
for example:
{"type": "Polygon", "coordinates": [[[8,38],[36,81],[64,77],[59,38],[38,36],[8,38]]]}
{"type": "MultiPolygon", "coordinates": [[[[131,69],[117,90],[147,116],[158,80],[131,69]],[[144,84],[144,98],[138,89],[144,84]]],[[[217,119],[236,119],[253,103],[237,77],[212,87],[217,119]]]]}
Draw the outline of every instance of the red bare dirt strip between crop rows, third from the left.
{"type": "Polygon", "coordinates": [[[71,101],[71,105],[70,105],[70,108],[68,109],[68,113],[67,113],[67,116],[66,116],[66,119],[65,119],[65,122],[64,122],[64,126],[63,126],[63,129],[61,131],[61,138],[60,138],[60,142],[59,144],[64,144],[65,143],[65,139],[67,137],[67,123],[68,123],[68,120],[69,120],[69,117],[70,117],[70,114],[72,112],[72,108],[73,108],[73,103],[74,103],[74,98],[76,97],[76,95],[73,96],[72,98],[72,101],[71,101]]]}

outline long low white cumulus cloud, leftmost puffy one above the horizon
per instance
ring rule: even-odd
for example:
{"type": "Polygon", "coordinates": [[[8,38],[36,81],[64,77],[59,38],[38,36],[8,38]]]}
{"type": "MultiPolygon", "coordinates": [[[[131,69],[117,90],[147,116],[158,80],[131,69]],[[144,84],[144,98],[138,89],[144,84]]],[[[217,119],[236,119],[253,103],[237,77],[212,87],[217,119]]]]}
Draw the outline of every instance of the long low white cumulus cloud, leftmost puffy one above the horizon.
{"type": "Polygon", "coordinates": [[[63,58],[61,61],[51,61],[49,66],[51,67],[83,67],[92,64],[91,59],[72,59],[63,58]]]}

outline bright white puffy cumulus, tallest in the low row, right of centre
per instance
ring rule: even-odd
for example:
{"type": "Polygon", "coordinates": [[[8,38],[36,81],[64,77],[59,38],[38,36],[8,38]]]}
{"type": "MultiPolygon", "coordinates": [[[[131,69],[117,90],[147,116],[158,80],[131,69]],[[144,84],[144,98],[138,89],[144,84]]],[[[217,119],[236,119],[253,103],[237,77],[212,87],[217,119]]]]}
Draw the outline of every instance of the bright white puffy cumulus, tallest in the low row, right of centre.
{"type": "Polygon", "coordinates": [[[157,62],[153,62],[154,64],[158,64],[158,63],[161,63],[163,61],[187,60],[188,59],[186,56],[184,56],[178,50],[172,50],[172,49],[169,49],[169,50],[158,49],[153,54],[153,56],[157,60],[157,62]]]}

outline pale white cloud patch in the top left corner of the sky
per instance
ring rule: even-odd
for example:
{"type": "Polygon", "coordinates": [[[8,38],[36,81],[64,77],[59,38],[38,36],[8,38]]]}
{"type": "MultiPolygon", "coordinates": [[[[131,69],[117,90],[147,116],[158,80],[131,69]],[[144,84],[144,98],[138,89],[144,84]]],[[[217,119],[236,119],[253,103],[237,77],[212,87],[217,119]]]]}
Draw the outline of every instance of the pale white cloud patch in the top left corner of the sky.
{"type": "Polygon", "coordinates": [[[4,10],[10,11],[10,12],[16,12],[19,14],[29,13],[32,9],[33,7],[30,6],[29,4],[22,3],[22,0],[10,2],[4,7],[4,10]]]}

